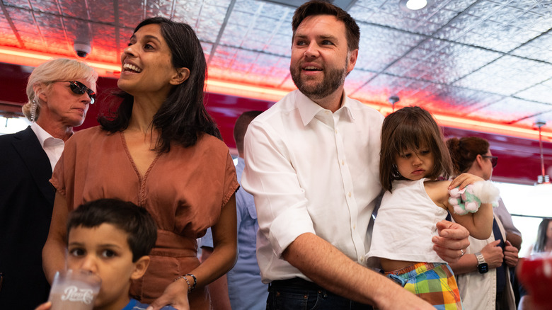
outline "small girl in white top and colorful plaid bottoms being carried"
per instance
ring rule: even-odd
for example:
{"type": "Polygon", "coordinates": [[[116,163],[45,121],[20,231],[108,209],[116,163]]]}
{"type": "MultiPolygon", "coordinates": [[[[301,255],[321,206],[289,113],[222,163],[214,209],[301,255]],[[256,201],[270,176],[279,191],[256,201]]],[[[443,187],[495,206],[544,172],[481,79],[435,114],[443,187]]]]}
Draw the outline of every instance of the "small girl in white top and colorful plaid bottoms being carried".
{"type": "MultiPolygon", "coordinates": [[[[381,130],[379,178],[385,190],[377,212],[369,265],[377,258],[387,277],[437,309],[462,309],[449,265],[432,250],[437,222],[449,212],[476,239],[493,229],[493,209],[482,203],[476,213],[459,215],[449,203],[452,162],[432,115],[419,107],[391,113],[381,130]],[[455,308],[456,307],[456,308],[455,308]]],[[[464,174],[469,183],[484,181],[464,174]]]]}

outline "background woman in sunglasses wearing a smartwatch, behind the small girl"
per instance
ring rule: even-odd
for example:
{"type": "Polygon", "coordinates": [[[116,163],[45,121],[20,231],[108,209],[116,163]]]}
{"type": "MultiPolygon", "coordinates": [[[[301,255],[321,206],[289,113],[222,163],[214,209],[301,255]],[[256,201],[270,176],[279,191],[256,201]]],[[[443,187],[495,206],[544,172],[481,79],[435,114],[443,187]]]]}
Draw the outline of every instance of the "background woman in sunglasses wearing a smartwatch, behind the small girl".
{"type": "MultiPolygon", "coordinates": [[[[498,157],[491,154],[489,142],[479,137],[447,140],[456,175],[471,173],[489,180],[498,157]]],[[[493,234],[487,240],[470,236],[466,255],[450,264],[466,309],[516,309],[510,282],[510,268],[517,265],[521,234],[502,203],[493,208],[493,234]],[[500,215],[499,215],[500,214],[500,215]],[[502,225],[504,223],[504,225],[502,225]],[[512,240],[512,241],[509,241],[512,240]],[[516,246],[512,246],[515,243],[516,246]]]]}

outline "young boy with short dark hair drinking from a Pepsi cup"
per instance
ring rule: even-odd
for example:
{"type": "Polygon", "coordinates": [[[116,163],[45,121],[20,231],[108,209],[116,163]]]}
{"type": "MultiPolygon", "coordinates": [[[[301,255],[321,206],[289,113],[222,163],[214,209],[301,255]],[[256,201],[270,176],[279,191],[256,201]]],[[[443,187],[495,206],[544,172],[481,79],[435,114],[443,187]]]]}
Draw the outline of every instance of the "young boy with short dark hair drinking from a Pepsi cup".
{"type": "MultiPolygon", "coordinates": [[[[146,209],[115,199],[87,202],[69,214],[67,236],[67,268],[88,270],[102,280],[95,310],[147,308],[128,294],[131,280],[146,272],[157,239],[156,224],[146,209]]],[[[47,302],[37,310],[50,306],[47,302]]]]}

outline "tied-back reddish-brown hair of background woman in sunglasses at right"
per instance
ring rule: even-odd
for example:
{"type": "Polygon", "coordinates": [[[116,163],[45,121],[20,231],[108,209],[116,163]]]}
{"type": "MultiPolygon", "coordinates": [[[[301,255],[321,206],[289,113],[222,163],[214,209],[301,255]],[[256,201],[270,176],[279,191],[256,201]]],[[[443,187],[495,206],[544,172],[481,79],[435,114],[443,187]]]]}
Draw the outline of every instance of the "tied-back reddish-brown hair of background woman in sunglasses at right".
{"type": "Polygon", "coordinates": [[[489,142],[480,137],[450,138],[447,147],[454,166],[454,173],[459,175],[470,170],[478,155],[489,151],[489,142]]]}

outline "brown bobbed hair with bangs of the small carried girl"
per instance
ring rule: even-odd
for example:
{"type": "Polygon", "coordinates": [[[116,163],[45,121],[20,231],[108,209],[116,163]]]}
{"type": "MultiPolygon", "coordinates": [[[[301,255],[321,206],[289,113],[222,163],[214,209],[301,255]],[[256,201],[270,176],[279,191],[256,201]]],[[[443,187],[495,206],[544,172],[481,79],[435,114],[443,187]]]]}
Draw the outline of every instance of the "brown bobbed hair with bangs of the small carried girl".
{"type": "Polygon", "coordinates": [[[406,180],[396,167],[395,158],[406,149],[427,147],[433,154],[433,168],[426,178],[448,178],[452,172],[449,151],[439,125],[420,107],[406,107],[389,114],[381,127],[379,180],[384,190],[392,191],[393,180],[406,180]]]}

